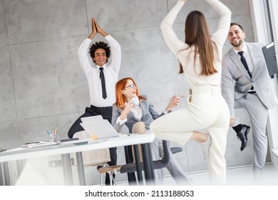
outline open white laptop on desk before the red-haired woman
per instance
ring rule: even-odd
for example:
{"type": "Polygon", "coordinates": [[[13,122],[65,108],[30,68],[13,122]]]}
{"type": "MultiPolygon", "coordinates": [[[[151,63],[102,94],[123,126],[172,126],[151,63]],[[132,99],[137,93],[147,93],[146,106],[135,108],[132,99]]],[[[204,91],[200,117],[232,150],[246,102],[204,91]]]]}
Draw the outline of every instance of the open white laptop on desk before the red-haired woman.
{"type": "Polygon", "coordinates": [[[101,121],[82,122],[80,125],[91,135],[92,139],[118,137],[120,134],[107,119],[101,121]]]}

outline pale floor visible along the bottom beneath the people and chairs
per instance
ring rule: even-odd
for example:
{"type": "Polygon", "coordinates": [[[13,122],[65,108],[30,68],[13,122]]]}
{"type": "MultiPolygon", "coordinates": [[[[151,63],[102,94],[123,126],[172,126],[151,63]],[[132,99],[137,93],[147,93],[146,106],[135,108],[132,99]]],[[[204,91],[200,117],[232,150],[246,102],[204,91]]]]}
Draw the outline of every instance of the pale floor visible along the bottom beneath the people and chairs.
{"type": "MultiPolygon", "coordinates": [[[[191,181],[191,185],[210,185],[210,178],[207,171],[201,171],[191,174],[186,174],[191,181]]],[[[175,186],[175,181],[171,176],[166,176],[163,179],[165,186],[175,186]]],[[[128,182],[117,183],[118,186],[127,186],[128,182]]],[[[227,169],[227,185],[230,186],[278,186],[278,169],[275,169],[272,164],[266,164],[264,167],[264,175],[261,179],[254,179],[252,175],[252,166],[242,166],[232,169],[227,169]]]]}

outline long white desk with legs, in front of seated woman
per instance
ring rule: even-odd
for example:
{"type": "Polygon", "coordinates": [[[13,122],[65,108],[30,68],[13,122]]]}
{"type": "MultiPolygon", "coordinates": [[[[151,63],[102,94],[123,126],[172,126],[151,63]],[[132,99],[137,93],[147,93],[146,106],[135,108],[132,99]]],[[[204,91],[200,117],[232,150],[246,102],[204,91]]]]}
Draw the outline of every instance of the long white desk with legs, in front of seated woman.
{"type": "MultiPolygon", "coordinates": [[[[88,144],[57,144],[53,146],[43,146],[36,148],[17,148],[11,149],[8,151],[4,151],[0,153],[0,163],[3,164],[4,176],[6,172],[6,166],[8,161],[18,161],[23,159],[31,159],[43,156],[54,156],[61,155],[63,162],[63,174],[66,181],[66,184],[73,185],[72,179],[72,171],[71,171],[71,159],[70,154],[76,153],[76,161],[78,166],[78,176],[81,185],[85,185],[85,176],[83,171],[83,159],[82,159],[82,151],[96,150],[96,149],[106,149],[110,147],[118,147],[118,146],[128,146],[134,144],[150,144],[155,139],[154,134],[136,134],[130,136],[119,136],[108,139],[101,139],[98,141],[89,141],[88,144]]],[[[148,149],[148,146],[147,146],[148,149]]],[[[148,149],[147,151],[149,151],[148,149]]],[[[145,152],[146,154],[150,154],[150,152],[145,152]]],[[[145,157],[144,163],[147,165],[146,167],[151,170],[153,173],[152,162],[148,155],[145,157]]],[[[137,172],[141,172],[138,170],[137,172]]],[[[1,173],[1,171],[0,171],[1,173]]],[[[153,175],[152,175],[153,176],[153,175]]],[[[5,177],[4,177],[5,178],[5,177]]],[[[146,177],[146,179],[149,177],[146,177]]]]}

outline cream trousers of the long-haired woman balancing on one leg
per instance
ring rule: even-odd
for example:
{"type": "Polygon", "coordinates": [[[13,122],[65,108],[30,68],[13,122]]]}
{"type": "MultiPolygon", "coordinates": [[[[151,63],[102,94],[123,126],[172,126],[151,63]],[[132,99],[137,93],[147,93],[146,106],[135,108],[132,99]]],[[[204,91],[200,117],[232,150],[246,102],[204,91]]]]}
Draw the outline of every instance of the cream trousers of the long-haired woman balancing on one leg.
{"type": "Polygon", "coordinates": [[[185,145],[193,131],[207,129],[212,139],[208,154],[208,169],[212,181],[225,181],[227,131],[230,111],[221,89],[217,86],[195,86],[187,98],[187,107],[155,119],[150,132],[159,139],[185,145]]]}

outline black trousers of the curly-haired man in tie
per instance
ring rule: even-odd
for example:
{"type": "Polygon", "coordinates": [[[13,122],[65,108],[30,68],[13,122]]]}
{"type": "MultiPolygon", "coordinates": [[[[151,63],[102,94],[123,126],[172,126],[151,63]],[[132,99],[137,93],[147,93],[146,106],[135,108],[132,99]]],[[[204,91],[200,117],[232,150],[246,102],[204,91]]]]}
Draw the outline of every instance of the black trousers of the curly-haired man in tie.
{"type": "MultiPolygon", "coordinates": [[[[107,119],[110,123],[112,120],[112,106],[109,107],[96,107],[91,105],[90,107],[87,107],[85,109],[85,113],[81,115],[71,126],[71,129],[68,131],[68,137],[73,138],[73,134],[75,134],[78,131],[84,131],[83,127],[80,125],[81,118],[87,117],[87,116],[96,116],[101,115],[103,116],[103,119],[107,119]]],[[[108,162],[109,166],[116,165],[117,164],[117,148],[113,147],[109,149],[110,151],[110,159],[111,161],[108,162]]],[[[115,174],[113,175],[115,178],[115,174]]],[[[110,179],[108,174],[105,176],[105,185],[110,185],[110,179]]]]}

